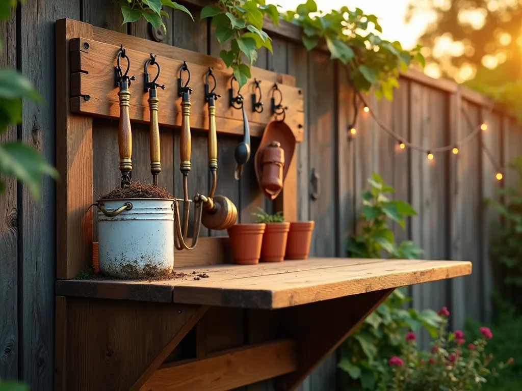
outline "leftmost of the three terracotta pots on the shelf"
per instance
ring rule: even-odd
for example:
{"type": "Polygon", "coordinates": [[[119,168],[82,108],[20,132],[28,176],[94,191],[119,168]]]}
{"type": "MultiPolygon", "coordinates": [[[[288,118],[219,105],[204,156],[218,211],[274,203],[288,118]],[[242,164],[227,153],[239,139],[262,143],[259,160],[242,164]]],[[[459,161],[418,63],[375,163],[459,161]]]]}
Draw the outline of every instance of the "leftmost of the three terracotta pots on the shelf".
{"type": "Polygon", "coordinates": [[[252,265],[259,262],[266,224],[235,224],[228,229],[234,263],[252,265]]]}

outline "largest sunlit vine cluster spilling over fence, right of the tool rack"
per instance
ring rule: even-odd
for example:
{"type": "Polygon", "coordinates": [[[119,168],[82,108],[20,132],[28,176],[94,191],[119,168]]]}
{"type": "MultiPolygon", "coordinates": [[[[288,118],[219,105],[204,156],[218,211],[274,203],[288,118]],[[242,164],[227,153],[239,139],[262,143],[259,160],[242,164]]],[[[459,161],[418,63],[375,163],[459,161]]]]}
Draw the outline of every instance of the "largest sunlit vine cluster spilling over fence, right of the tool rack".
{"type": "Polygon", "coordinates": [[[283,18],[303,28],[303,44],[312,50],[326,42],[331,58],[346,65],[348,74],[358,91],[374,87],[381,99],[393,99],[393,89],[399,87],[399,69],[406,71],[413,60],[424,66],[420,46],[404,50],[398,41],[381,39],[371,30],[382,32],[375,15],[366,15],[360,8],[342,7],[328,14],[311,16],[317,12],[314,0],[287,11],[283,18]]]}

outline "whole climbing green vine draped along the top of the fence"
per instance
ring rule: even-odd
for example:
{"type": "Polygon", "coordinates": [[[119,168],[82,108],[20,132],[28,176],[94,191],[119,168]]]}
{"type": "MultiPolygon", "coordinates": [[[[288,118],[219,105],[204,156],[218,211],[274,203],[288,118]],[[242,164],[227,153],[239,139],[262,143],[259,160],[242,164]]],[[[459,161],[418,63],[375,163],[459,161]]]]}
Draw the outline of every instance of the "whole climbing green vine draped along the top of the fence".
{"type": "MultiPolygon", "coordinates": [[[[184,10],[171,0],[121,0],[125,21],[138,20],[143,15],[154,26],[161,26],[161,5],[184,10]],[[122,3],[122,4],[123,4],[122,3]],[[161,4],[160,4],[161,3],[161,4]],[[132,14],[132,15],[131,15],[132,14]],[[156,25],[155,25],[156,23],[156,25]]],[[[277,7],[265,0],[219,0],[201,10],[201,19],[212,18],[215,36],[220,44],[230,41],[228,49],[219,56],[242,87],[251,78],[251,66],[257,51],[266,47],[272,51],[271,39],[263,31],[267,16],[278,24],[286,20],[302,28],[302,41],[307,50],[325,45],[332,59],[338,59],[358,91],[373,88],[381,99],[393,99],[394,88],[399,87],[399,71],[406,71],[412,62],[424,66],[421,46],[405,50],[398,41],[383,40],[381,25],[375,15],[364,14],[360,8],[342,7],[330,13],[318,12],[314,0],[307,0],[295,11],[280,14],[277,7]]]]}

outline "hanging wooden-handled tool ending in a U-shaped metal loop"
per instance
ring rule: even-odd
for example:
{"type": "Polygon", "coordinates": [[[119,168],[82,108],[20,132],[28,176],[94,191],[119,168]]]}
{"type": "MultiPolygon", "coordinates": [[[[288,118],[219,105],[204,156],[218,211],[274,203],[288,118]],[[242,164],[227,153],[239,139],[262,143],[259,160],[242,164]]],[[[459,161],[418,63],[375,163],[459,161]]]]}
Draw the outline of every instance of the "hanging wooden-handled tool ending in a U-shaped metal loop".
{"type": "Polygon", "coordinates": [[[181,131],[180,131],[180,171],[183,175],[183,199],[174,199],[174,246],[178,250],[192,250],[197,245],[199,229],[201,228],[201,211],[205,197],[195,194],[192,200],[188,199],[188,173],[191,171],[191,101],[190,95],[192,88],[188,87],[191,81],[191,71],[187,63],[183,62],[180,68],[180,77],[177,79],[178,94],[181,96],[181,131]],[[183,83],[183,72],[187,73],[187,81],[183,83]],[[183,220],[180,220],[180,203],[183,202],[183,220]],[[188,215],[190,204],[194,203],[194,231],[192,235],[192,245],[189,247],[185,243],[188,230],[188,215]]]}

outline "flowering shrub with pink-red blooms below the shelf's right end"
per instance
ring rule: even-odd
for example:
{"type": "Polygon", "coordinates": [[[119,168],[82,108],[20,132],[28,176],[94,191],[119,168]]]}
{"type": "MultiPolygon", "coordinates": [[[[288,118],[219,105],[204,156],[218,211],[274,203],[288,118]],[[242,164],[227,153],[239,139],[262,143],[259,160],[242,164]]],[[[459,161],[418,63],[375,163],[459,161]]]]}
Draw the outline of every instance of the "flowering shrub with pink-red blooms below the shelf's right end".
{"type": "Polygon", "coordinates": [[[465,391],[476,390],[486,383],[487,376],[496,376],[499,370],[513,363],[488,368],[493,355],[485,353],[488,340],[493,333],[488,327],[480,327],[480,338],[466,346],[464,332],[447,333],[449,312],[443,308],[438,312],[442,322],[437,338],[429,353],[419,351],[414,333],[406,335],[406,348],[401,357],[389,359],[387,375],[379,384],[385,391],[465,391]]]}

